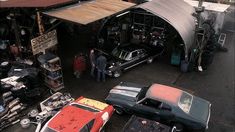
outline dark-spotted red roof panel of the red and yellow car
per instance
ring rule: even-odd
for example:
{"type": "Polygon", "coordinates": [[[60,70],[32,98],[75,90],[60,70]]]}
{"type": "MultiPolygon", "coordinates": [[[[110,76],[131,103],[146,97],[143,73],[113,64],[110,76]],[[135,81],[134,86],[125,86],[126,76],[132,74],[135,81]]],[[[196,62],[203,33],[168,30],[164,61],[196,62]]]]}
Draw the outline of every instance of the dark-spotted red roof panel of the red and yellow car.
{"type": "Polygon", "coordinates": [[[77,132],[95,117],[95,113],[68,105],[53,117],[48,127],[60,132],[77,132]]]}

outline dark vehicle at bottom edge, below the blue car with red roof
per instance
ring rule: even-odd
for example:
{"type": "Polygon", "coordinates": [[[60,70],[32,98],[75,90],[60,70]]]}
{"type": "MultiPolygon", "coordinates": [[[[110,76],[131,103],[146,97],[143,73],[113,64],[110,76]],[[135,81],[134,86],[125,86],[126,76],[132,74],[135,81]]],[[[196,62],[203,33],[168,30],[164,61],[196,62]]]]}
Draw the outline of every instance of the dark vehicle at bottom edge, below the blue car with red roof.
{"type": "Polygon", "coordinates": [[[133,115],[125,124],[123,132],[176,132],[176,130],[175,127],[171,128],[160,122],[133,115]]]}

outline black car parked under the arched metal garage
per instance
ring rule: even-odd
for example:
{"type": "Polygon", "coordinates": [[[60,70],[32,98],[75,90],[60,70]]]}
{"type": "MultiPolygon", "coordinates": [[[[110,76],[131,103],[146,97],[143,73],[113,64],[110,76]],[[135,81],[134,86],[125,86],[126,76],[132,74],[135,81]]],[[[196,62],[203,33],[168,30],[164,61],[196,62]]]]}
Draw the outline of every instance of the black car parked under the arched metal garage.
{"type": "Polygon", "coordinates": [[[153,50],[140,45],[126,45],[116,47],[108,57],[107,74],[119,77],[121,73],[144,62],[152,63],[162,50],[153,50]]]}

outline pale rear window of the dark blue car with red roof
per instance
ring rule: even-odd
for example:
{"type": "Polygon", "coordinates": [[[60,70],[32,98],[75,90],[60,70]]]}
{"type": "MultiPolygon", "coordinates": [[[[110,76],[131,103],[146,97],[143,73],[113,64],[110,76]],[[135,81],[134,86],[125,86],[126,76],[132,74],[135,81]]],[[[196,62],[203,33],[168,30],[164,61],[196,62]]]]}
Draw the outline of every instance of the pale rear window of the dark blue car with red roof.
{"type": "Polygon", "coordinates": [[[193,101],[193,96],[189,93],[183,92],[178,102],[179,107],[185,112],[189,113],[193,101]]]}

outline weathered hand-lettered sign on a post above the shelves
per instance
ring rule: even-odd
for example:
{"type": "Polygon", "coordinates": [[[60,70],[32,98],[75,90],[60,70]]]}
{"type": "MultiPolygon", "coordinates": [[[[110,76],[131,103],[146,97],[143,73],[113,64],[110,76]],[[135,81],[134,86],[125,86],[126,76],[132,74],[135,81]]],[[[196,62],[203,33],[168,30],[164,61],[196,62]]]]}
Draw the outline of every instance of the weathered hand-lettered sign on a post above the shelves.
{"type": "Polygon", "coordinates": [[[33,55],[45,52],[46,49],[55,46],[58,43],[56,30],[52,30],[46,34],[33,38],[31,40],[33,55]]]}

